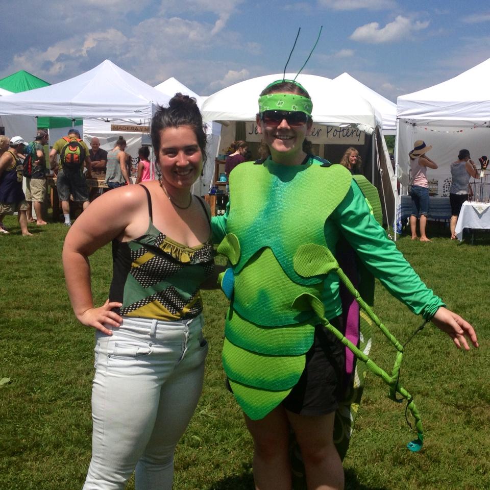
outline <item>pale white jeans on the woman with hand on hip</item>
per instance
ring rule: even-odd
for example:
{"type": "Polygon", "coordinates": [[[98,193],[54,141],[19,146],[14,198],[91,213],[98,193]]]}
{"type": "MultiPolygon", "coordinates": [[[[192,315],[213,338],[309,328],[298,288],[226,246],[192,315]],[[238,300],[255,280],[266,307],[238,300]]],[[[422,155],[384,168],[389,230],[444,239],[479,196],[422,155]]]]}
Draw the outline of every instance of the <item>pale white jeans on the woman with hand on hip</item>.
{"type": "Polygon", "coordinates": [[[159,322],[125,316],[96,332],[92,460],[84,490],[170,490],[174,450],[201,395],[208,346],[202,315],[159,322]]]}

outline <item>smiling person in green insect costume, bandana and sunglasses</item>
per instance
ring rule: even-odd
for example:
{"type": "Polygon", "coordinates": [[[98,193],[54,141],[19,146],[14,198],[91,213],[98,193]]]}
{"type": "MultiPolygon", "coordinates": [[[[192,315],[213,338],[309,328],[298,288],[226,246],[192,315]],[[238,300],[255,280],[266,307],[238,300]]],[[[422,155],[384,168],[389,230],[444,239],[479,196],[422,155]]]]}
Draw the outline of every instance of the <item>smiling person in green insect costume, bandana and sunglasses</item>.
{"type": "MultiPolygon", "coordinates": [[[[359,382],[365,370],[352,371],[344,347],[351,311],[342,312],[339,291],[356,294],[362,284],[344,278],[334,255],[352,248],[366,273],[458,348],[469,349],[465,337],[478,345],[472,326],[444,307],[386,237],[349,170],[303,152],[311,112],[312,101],[297,82],[280,80],[262,91],[257,126],[271,156],[232,171],[226,214],[212,223],[218,251],[230,263],[222,277],[230,299],[223,365],[254,439],[260,490],[291,488],[290,428],[308,489],[344,487],[339,452],[344,455],[342,441],[350,434],[334,442],[335,412],[346,383],[359,382]]],[[[359,302],[362,320],[369,307],[359,302]]],[[[369,353],[362,335],[350,341],[360,356],[369,353]]],[[[344,419],[350,417],[348,409],[344,419]]]]}

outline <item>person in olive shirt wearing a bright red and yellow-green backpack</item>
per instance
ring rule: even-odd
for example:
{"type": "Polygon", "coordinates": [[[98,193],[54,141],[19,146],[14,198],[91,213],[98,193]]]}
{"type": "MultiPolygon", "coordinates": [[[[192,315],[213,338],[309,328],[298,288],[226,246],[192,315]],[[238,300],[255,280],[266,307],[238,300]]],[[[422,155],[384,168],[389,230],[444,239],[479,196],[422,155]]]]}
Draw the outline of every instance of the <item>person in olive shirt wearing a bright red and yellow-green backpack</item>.
{"type": "Polygon", "coordinates": [[[71,226],[70,194],[75,202],[83,203],[85,210],[89,204],[89,192],[85,177],[90,178],[90,157],[88,146],[81,140],[76,129],[70,129],[68,136],[55,142],[50,152],[50,167],[57,175],[56,187],[65,218],[65,226],[71,226]],[[58,165],[56,156],[59,155],[58,165]],[[83,166],[87,173],[84,175],[83,166]]]}

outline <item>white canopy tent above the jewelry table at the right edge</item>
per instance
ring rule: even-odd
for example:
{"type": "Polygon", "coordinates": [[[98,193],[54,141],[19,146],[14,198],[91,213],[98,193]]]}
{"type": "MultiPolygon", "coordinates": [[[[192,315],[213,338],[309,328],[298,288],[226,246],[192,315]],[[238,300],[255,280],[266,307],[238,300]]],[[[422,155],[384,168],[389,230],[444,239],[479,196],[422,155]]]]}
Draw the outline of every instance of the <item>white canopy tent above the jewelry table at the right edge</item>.
{"type": "Polygon", "coordinates": [[[416,140],[433,146],[429,156],[438,168],[429,169],[427,177],[438,179],[439,194],[459,150],[468,149],[475,161],[490,155],[489,77],[490,59],[446,82],[398,97],[395,152],[403,186],[408,185],[408,152],[416,140]]]}

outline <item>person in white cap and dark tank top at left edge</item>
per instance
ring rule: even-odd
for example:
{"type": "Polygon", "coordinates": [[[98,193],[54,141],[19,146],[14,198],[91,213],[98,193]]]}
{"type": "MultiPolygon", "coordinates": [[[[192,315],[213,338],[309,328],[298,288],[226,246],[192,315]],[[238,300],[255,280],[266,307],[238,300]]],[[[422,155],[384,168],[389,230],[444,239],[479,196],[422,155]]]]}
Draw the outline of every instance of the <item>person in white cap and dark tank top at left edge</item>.
{"type": "Polygon", "coordinates": [[[14,136],[10,139],[9,149],[0,157],[0,222],[5,214],[17,212],[20,231],[27,236],[32,233],[27,227],[27,201],[22,190],[23,168],[18,156],[26,146],[27,142],[21,136],[14,136]]]}

